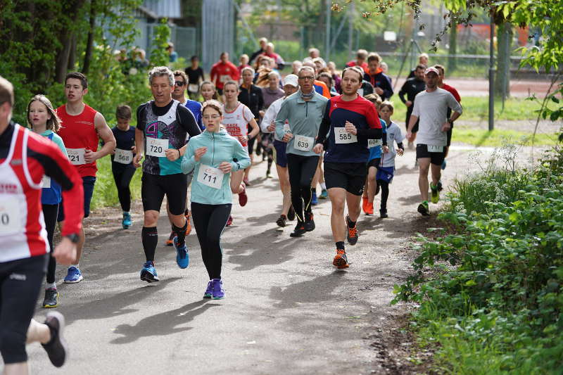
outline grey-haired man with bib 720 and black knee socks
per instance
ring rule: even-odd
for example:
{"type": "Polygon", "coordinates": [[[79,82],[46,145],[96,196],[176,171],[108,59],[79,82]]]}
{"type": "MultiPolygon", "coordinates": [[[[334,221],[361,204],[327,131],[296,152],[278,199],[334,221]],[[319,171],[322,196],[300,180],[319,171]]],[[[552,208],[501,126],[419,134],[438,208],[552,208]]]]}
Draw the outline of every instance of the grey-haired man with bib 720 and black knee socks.
{"type": "Polygon", "coordinates": [[[166,195],[172,214],[172,229],[175,231],[174,246],[178,267],[189,265],[186,243],[188,224],[184,217],[188,183],[182,173],[180,158],[186,150],[186,137],[201,133],[194,115],[179,101],[172,99],[174,75],[165,66],[157,66],[148,73],[148,83],[154,100],[137,108],[137,129],[135,146],[137,155],[133,165],[140,167],[143,150],[141,198],[143,201],[144,222],[141,231],[146,262],[141,269],[141,280],[148,283],[158,281],[154,258],[158,231],[156,224],[160,215],[160,205],[166,195]]]}

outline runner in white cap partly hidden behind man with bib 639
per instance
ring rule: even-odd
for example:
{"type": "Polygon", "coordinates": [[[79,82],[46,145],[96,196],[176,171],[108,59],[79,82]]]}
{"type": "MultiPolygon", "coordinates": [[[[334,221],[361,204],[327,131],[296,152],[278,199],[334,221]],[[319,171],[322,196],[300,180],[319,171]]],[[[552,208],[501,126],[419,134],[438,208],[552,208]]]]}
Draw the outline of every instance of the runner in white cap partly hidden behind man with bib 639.
{"type": "MultiPolygon", "coordinates": [[[[279,179],[279,188],[284,196],[283,203],[281,205],[281,215],[276,220],[276,224],[279,227],[285,227],[287,220],[293,221],[295,219],[295,210],[291,205],[291,194],[289,191],[289,174],[287,172],[287,155],[286,155],[286,143],[281,141],[281,139],[276,134],[275,120],[279,109],[281,108],[281,103],[284,102],[285,98],[297,92],[299,85],[297,83],[297,75],[287,75],[284,80],[284,97],[274,101],[270,107],[266,110],[264,117],[262,118],[262,123],[260,124],[260,129],[264,133],[274,134],[274,148],[276,149],[276,170],[279,179]]],[[[284,132],[290,132],[289,122],[284,122],[284,132]]]]}

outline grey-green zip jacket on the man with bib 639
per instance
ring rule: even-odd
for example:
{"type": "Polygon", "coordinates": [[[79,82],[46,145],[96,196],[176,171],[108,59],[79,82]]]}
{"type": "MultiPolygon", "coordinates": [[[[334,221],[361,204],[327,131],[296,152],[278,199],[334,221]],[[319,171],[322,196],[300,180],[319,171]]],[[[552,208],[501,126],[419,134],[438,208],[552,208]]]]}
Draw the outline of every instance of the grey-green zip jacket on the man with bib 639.
{"type": "Polygon", "coordinates": [[[302,156],[318,156],[318,153],[312,151],[315,146],[315,139],[319,134],[324,110],[327,108],[327,101],[321,94],[315,92],[315,96],[310,101],[304,101],[301,98],[301,91],[291,94],[281,103],[281,108],[276,117],[276,136],[278,139],[284,137],[284,124],[286,120],[293,138],[287,143],[286,153],[294,153],[302,156]],[[307,136],[312,138],[312,143],[307,144],[309,151],[297,150],[294,146],[296,136],[307,136]]]}

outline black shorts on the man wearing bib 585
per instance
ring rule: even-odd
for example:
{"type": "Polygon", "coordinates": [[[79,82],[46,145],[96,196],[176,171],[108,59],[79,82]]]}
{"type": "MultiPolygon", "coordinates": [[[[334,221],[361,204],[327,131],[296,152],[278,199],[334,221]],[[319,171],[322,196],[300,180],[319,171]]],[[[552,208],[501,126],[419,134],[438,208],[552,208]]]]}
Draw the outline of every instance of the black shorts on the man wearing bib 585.
{"type": "Polygon", "coordinates": [[[327,189],[342,188],[355,196],[361,196],[366,176],[365,163],[324,162],[324,183],[327,184],[327,189]]]}

